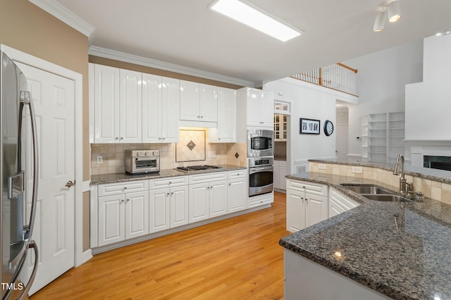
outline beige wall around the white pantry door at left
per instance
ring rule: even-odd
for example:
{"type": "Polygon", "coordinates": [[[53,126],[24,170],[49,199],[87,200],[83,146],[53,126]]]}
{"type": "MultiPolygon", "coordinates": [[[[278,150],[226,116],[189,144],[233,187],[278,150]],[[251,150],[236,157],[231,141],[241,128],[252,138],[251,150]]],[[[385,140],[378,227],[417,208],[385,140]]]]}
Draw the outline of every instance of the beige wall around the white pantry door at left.
{"type": "MultiPolygon", "coordinates": [[[[89,180],[88,39],[27,0],[1,0],[0,43],[83,76],[83,180],[89,180]]],[[[83,195],[83,250],[89,249],[89,192],[83,195]]]]}

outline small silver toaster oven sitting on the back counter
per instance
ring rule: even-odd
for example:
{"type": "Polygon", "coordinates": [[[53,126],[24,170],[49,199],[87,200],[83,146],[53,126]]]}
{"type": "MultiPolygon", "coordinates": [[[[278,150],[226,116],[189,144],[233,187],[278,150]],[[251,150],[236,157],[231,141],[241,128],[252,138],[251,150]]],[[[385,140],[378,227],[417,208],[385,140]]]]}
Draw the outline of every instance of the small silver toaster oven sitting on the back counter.
{"type": "Polygon", "coordinates": [[[159,150],[125,150],[125,172],[128,174],[158,173],[160,171],[159,150]]]}

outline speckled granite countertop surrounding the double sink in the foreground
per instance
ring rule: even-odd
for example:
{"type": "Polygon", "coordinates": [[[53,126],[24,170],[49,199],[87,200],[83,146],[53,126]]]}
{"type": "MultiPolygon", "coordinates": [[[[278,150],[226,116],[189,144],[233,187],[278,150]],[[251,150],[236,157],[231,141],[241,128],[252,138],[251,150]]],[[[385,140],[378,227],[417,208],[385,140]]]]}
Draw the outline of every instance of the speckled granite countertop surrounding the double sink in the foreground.
{"type": "Polygon", "coordinates": [[[340,186],[398,188],[375,180],[321,173],[287,177],[335,187],[362,205],[283,237],[281,246],[393,299],[451,299],[450,204],[428,198],[372,201],[340,186]]]}

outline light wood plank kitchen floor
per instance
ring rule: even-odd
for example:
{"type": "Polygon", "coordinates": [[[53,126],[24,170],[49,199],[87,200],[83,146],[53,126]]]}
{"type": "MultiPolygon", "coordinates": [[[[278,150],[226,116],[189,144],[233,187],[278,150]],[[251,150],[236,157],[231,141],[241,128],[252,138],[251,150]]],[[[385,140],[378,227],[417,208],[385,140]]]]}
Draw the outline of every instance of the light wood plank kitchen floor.
{"type": "Polygon", "coordinates": [[[271,208],[97,254],[38,299],[283,299],[285,194],[271,208]]]}

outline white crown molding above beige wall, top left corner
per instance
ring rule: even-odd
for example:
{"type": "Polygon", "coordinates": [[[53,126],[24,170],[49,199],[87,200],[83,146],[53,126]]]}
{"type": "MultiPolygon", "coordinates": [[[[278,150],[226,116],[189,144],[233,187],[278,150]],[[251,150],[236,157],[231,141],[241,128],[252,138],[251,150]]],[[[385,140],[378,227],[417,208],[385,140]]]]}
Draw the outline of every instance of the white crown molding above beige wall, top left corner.
{"type": "Polygon", "coordinates": [[[50,13],[55,18],[63,21],[75,30],[78,30],[83,35],[89,37],[94,31],[94,27],[87,23],[82,18],[75,15],[75,13],[69,11],[66,7],[59,4],[56,0],[28,0],[35,6],[38,6],[47,13],[50,13]]]}

